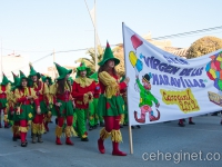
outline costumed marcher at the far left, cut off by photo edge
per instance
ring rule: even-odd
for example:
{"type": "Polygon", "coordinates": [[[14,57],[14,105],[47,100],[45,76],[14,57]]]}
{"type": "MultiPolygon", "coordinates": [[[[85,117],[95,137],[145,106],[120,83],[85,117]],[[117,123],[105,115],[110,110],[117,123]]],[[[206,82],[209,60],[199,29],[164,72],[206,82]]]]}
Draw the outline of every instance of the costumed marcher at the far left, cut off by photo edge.
{"type": "Polygon", "coordinates": [[[4,128],[9,128],[9,120],[8,120],[8,111],[7,111],[7,98],[10,95],[10,81],[4,73],[2,73],[3,78],[0,84],[0,128],[1,128],[1,112],[3,111],[4,118],[4,128]]]}

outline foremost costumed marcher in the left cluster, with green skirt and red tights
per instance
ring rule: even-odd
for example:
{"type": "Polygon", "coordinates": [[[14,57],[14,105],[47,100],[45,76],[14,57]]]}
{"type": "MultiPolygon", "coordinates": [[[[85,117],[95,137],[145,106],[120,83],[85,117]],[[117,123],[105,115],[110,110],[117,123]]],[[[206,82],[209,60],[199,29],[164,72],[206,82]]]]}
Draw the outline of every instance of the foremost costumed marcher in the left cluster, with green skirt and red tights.
{"type": "Polygon", "coordinates": [[[28,121],[33,119],[34,112],[41,114],[40,104],[38,96],[33,88],[28,86],[29,79],[20,71],[20,81],[14,90],[14,97],[17,102],[16,114],[19,115],[20,120],[20,137],[21,147],[27,147],[27,132],[28,132],[28,121]],[[34,106],[34,107],[33,107],[34,106]]]}

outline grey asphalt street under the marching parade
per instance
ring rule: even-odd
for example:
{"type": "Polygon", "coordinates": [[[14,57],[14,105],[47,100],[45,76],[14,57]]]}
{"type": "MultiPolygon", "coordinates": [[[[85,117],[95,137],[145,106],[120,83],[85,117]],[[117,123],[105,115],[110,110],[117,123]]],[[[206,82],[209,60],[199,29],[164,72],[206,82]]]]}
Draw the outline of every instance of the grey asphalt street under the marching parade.
{"type": "MultiPolygon", "coordinates": [[[[2,128],[0,129],[0,167],[221,167],[222,160],[218,160],[219,153],[222,155],[220,120],[220,116],[209,115],[193,118],[196,125],[189,125],[186,119],[185,127],[179,127],[178,121],[171,121],[132,129],[133,155],[130,155],[129,149],[129,129],[124,127],[121,129],[123,143],[120,148],[129,153],[127,157],[111,155],[110,138],[104,143],[105,154],[101,155],[98,151],[97,139],[100,127],[89,131],[88,143],[73,137],[74,146],[57,146],[56,125],[50,124],[50,132],[43,135],[43,144],[31,144],[29,131],[27,148],[20,146],[20,140],[12,141],[10,129],[2,128]],[[200,151],[202,156],[196,158],[200,151]],[[148,160],[148,154],[152,155],[152,160],[148,160]],[[209,159],[205,158],[206,154],[209,159]]],[[[62,141],[64,144],[64,138],[62,141]]]]}

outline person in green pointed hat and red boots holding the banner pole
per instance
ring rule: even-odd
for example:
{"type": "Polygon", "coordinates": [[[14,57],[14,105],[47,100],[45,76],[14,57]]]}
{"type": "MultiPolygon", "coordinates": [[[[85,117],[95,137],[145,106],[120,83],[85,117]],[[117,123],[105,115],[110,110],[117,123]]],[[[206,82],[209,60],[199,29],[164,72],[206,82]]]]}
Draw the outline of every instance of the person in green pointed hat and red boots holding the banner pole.
{"type": "Polygon", "coordinates": [[[98,114],[104,118],[104,128],[100,131],[98,148],[101,154],[104,154],[103,141],[111,136],[113,146],[112,155],[127,156],[125,153],[119,150],[119,143],[122,141],[120,116],[124,114],[124,104],[121,100],[120,91],[127,88],[129,78],[125,78],[121,84],[119,82],[119,77],[114,69],[119,63],[120,60],[114,58],[109,43],[107,43],[103,59],[99,62],[100,69],[98,72],[101,87],[98,114]]]}

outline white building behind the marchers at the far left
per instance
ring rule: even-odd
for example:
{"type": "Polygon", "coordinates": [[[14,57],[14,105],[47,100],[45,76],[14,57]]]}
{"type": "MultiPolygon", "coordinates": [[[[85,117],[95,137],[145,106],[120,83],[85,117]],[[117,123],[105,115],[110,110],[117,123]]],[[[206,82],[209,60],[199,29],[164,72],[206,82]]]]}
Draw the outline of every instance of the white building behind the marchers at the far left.
{"type": "MultiPolygon", "coordinates": [[[[19,73],[19,70],[24,72],[24,75],[29,75],[29,58],[23,56],[2,56],[0,61],[0,69],[2,72],[13,81],[13,77],[11,71],[16,75],[19,73]]],[[[0,72],[0,79],[2,79],[2,72],[0,72]]],[[[1,80],[0,80],[1,81],[1,80]]]]}

